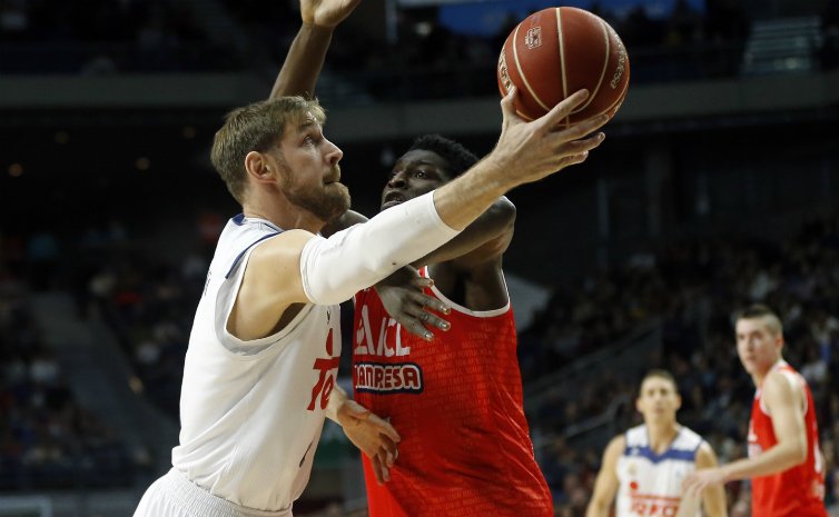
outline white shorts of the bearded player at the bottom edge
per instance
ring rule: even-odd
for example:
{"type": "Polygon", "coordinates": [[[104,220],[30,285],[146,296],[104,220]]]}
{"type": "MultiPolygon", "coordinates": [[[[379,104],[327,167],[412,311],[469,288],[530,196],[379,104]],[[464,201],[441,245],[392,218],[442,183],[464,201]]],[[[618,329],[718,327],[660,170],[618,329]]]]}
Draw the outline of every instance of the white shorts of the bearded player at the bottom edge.
{"type": "Polygon", "coordinates": [[[172,468],[146,490],[134,517],[292,517],[292,509],[265,511],[236,505],[172,468]]]}

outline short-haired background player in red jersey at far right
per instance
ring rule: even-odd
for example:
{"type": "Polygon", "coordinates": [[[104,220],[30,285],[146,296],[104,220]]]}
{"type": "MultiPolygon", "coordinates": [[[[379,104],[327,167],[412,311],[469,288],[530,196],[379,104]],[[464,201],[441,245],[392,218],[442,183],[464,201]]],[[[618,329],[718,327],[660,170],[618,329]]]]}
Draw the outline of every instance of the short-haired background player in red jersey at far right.
{"type": "Polygon", "coordinates": [[[807,381],[781,357],[783,328],[768,307],[737,315],[737,351],[757,391],[749,457],[694,473],[687,489],[751,479],[757,517],[827,517],[823,458],[807,381]]]}

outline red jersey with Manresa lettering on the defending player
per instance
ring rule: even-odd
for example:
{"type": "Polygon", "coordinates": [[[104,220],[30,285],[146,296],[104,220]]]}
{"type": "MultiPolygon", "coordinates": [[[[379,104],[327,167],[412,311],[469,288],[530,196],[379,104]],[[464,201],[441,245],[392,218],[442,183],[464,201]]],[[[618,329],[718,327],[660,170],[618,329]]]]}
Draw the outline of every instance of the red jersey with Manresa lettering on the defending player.
{"type": "Polygon", "coordinates": [[[391,481],[364,457],[371,517],[552,517],[522,404],[513,311],[452,307],[424,341],[404,331],[374,289],[355,298],[355,398],[402,436],[391,481]]]}

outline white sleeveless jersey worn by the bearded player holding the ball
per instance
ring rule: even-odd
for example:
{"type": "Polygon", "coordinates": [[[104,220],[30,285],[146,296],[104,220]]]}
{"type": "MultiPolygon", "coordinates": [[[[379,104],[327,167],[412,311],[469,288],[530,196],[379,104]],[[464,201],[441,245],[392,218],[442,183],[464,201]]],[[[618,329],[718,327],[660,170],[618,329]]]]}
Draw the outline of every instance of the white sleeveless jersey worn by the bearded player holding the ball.
{"type": "Polygon", "coordinates": [[[221,232],[189,337],[172,465],[215,496],[290,515],[335,385],[339,306],[307,305],[282,331],[253,341],[226,328],[250,252],[280,232],[241,215],[221,232]]]}

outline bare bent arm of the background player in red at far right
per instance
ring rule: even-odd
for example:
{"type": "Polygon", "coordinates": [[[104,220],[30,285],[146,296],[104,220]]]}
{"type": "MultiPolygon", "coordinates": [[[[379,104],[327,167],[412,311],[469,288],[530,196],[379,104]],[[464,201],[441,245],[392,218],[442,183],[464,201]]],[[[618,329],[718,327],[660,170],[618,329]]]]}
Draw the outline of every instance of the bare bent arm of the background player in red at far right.
{"type": "Polygon", "coordinates": [[[805,395],[801,386],[788,374],[774,370],[763,380],[762,389],[778,444],[753,458],[697,470],[688,476],[685,489],[701,493],[708,486],[782,473],[807,460],[805,395]]]}

